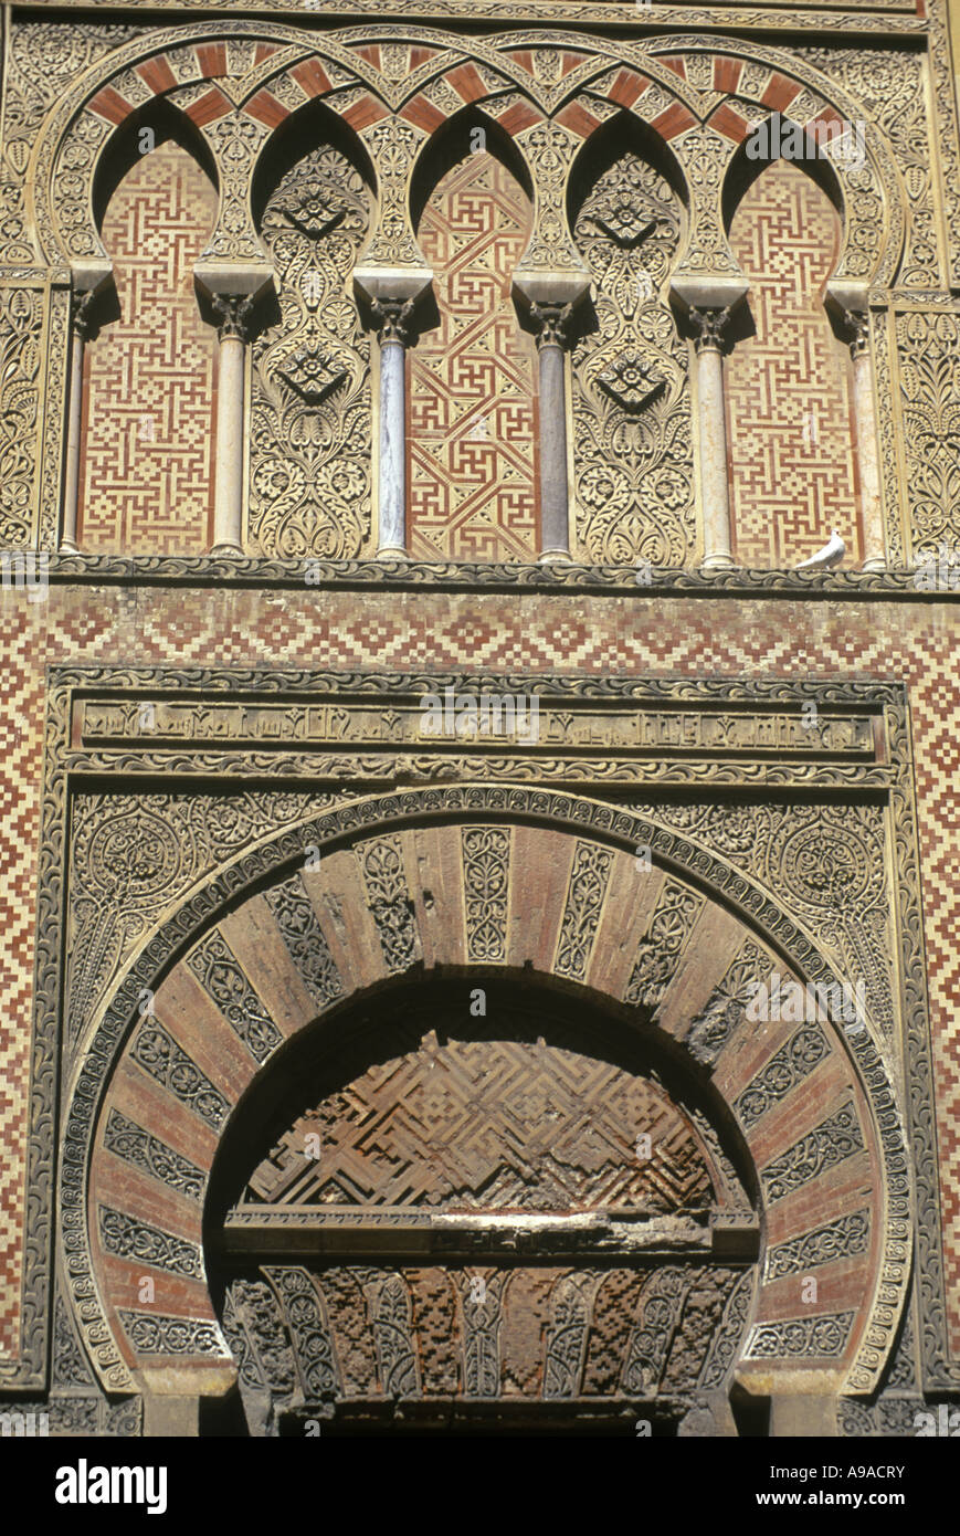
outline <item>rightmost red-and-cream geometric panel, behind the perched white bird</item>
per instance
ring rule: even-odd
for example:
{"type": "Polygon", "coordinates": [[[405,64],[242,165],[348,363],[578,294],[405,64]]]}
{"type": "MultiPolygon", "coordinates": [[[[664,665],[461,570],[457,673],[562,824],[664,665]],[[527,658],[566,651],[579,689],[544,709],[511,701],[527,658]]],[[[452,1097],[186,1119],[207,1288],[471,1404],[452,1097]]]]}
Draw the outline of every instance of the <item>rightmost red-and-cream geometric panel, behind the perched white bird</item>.
{"type": "MultiPolygon", "coordinates": [[[[788,132],[786,120],[780,124],[774,118],[774,140],[780,129],[788,132]]],[[[734,559],[742,565],[794,564],[836,528],[848,558],[863,561],[876,535],[869,495],[857,475],[866,445],[856,415],[859,362],[849,349],[856,323],[837,303],[837,292],[846,292],[837,276],[843,246],[839,178],[826,160],[790,154],[748,160],[740,146],[727,192],[727,229],[750,284],[730,327],[734,344],[723,378],[734,559]],[[799,393],[791,398],[783,387],[788,378],[802,379],[805,401],[816,398],[817,404],[802,406],[799,393]],[[757,422],[757,390],[766,387],[770,419],[757,422]],[[783,462],[805,455],[802,519],[779,495],[776,476],[765,475],[763,464],[777,453],[783,462]]],[[[854,292],[860,296],[866,290],[854,292]]],[[[865,346],[863,313],[860,324],[865,346]]]]}

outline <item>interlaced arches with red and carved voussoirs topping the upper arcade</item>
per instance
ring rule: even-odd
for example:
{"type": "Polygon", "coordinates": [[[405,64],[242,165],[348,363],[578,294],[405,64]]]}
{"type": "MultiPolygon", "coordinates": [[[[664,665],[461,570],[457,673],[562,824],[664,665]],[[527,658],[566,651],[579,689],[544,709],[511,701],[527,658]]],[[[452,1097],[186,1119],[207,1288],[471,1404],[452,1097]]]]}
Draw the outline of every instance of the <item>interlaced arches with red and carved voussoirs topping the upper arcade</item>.
{"type": "MultiPolygon", "coordinates": [[[[720,177],[725,180],[748,131],[746,98],[737,95],[737,84],[750,61],[770,69],[759,111],[779,111],[800,95],[813,95],[805,121],[843,115],[868,123],[865,170],[839,169],[845,206],[839,276],[889,283],[895,275],[905,238],[905,195],[883,135],[845,91],[780,49],[745,40],[693,37],[680,43],[653,37],[611,41],[567,32],[542,34],[531,48],[527,34],[467,43],[441,29],[398,25],[310,34],[306,41],[303,32],[280,23],[246,23],[241,40],[255,46],[255,63],[243,78],[230,81],[229,97],[217,86],[226,69],[227,38],[223,25],[215,22],[169,29],[160,38],[134,40],[89,66],[48,118],[32,157],[32,212],[46,260],[101,260],[91,207],[92,177],[109,129],[147,97],[175,98],[186,91],[194,100],[183,111],[192,123],[207,127],[237,111],[266,134],[303,101],[332,95],[346,83],[355,88],[356,98],[343,117],[361,135],[386,118],[399,118],[429,143],[464,106],[482,108],[515,138],[550,121],[564,138],[565,195],[571,158],[579,144],[602,127],[611,106],[631,111],[671,143],[691,184],[703,178],[702,131],[708,127],[719,141],[711,140],[710,155],[722,157],[720,177]],[[409,46],[412,61],[410,72],[399,81],[379,68],[382,45],[398,41],[409,46]],[[197,68],[187,80],[170,68],[167,54],[174,49],[194,51],[197,68]],[[533,54],[539,51],[559,54],[559,80],[538,78],[533,54]],[[684,55],[691,52],[710,52],[714,89],[707,95],[687,80],[684,55]],[[591,92],[598,80],[602,89],[591,92]],[[209,89],[198,94],[194,88],[204,83],[209,89]],[[124,89],[140,100],[127,100],[124,89]],[[727,100],[717,103],[720,91],[727,100]],[[591,95],[596,98],[593,111],[591,95]],[[499,111],[498,98],[502,101],[499,111]],[[722,146],[728,146],[725,154],[722,146]]],[[[419,146],[416,157],[424,147],[419,146]]],[[[710,183],[714,175],[711,170],[710,183]]],[[[691,206],[696,212],[694,200],[691,206]]]]}

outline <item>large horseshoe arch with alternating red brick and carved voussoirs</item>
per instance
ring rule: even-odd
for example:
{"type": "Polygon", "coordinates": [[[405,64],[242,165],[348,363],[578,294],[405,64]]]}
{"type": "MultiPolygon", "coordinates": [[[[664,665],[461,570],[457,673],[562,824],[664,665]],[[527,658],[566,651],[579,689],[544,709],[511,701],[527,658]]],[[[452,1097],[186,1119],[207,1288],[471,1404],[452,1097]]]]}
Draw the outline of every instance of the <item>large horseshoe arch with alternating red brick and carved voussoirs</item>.
{"type": "Polygon", "coordinates": [[[98,1011],[66,1094],[60,1209],[72,1304],[108,1389],[166,1366],[189,1367],[198,1392],[230,1379],[201,1207],[178,1180],[206,1183],[233,1106],[284,1040],[412,968],[527,962],[668,1035],[727,1101],[766,1212],[740,1379],[780,1390],[768,1361],[786,1353],[782,1390],[794,1372],[806,1390],[872,1389],[909,1275],[909,1170],[883,1057],[869,1021],[845,1025],[836,1008],[760,1026],[745,1009],[745,988],[773,986],[774,971],[843,978],[751,879],[677,833],[579,797],[479,786],[353,802],[258,845],[177,908],[98,1011]],[[492,837],[472,839],[478,828],[492,837]],[[637,846],[653,857],[642,889],[637,846]],[[507,859],[505,897],[490,854],[507,859]],[[530,868],[556,877],[530,889],[530,868]],[[842,1306],[800,1313],[790,1276],[817,1263],[826,1229],[856,1281],[842,1306]],[[147,1261],[166,1298],[151,1312],[132,1289],[147,1261]]]}

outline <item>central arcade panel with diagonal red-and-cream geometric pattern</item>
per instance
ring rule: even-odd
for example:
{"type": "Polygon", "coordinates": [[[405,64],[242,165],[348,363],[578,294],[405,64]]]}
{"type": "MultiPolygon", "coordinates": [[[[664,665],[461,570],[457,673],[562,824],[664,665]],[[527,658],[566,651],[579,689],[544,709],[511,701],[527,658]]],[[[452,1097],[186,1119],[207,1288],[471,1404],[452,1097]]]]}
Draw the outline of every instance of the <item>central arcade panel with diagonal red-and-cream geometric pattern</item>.
{"type": "Polygon", "coordinates": [[[536,559],[538,356],[516,293],[535,218],[530,167],[465,106],[432,134],[410,217],[433,278],[407,358],[407,538],[415,558],[536,559]]]}

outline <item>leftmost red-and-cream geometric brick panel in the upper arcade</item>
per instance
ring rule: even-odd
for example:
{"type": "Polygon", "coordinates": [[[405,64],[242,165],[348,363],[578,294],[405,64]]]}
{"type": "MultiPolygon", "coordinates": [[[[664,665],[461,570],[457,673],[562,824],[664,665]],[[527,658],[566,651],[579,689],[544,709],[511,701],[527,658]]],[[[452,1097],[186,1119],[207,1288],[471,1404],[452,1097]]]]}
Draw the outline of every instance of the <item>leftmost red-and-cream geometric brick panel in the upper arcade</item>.
{"type": "Polygon", "coordinates": [[[200,554],[214,496],[217,333],[194,266],[217,192],[178,144],[137,160],[111,198],[103,241],[120,316],[84,349],[83,548],[200,554]]]}

